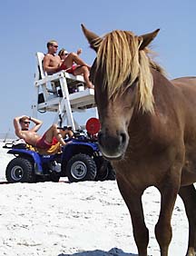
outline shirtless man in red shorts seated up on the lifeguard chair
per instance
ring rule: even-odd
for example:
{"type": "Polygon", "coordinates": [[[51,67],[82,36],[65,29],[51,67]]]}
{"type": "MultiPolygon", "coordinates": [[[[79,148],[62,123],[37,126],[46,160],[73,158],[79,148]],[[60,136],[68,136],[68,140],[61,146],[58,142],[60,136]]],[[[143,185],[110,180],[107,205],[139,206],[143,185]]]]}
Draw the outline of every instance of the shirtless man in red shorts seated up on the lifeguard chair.
{"type": "Polygon", "coordinates": [[[48,53],[44,55],[44,71],[47,74],[54,74],[60,70],[66,70],[66,72],[73,75],[83,74],[83,79],[88,88],[94,88],[93,84],[89,80],[90,66],[83,62],[78,54],[81,53],[81,49],[77,54],[66,54],[64,59],[61,59],[59,55],[56,55],[58,50],[58,43],[54,40],[47,43],[48,53]],[[74,65],[74,63],[76,65],[74,65]]]}

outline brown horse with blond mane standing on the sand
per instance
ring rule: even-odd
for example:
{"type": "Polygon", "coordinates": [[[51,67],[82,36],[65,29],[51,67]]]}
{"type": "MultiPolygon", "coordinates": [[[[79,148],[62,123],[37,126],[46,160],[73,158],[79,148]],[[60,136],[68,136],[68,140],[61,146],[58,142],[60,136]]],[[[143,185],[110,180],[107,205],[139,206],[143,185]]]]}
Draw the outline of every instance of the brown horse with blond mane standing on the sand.
{"type": "Polygon", "coordinates": [[[139,255],[147,255],[149,242],[142,193],[154,186],[161,193],[161,212],[155,226],[161,255],[168,255],[171,214],[179,193],[189,220],[187,255],[193,256],[196,77],[172,81],[166,78],[147,47],[158,32],[136,36],[115,30],[100,37],[83,26],[83,33],[97,54],[91,80],[102,125],[99,144],[116,170],[139,255]]]}

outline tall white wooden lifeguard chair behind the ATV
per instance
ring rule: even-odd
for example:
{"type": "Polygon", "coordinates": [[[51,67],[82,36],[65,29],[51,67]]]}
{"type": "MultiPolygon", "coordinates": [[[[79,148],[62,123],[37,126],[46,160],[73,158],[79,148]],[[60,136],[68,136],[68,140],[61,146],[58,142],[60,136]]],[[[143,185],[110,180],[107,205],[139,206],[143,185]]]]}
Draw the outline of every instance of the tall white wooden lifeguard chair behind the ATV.
{"type": "Polygon", "coordinates": [[[54,123],[71,125],[73,131],[77,123],[73,120],[73,112],[83,112],[95,107],[94,90],[85,89],[82,75],[73,75],[60,71],[48,75],[43,69],[43,53],[36,53],[36,72],[34,87],[36,100],[33,104],[33,116],[37,112],[55,112],[54,123]],[[83,88],[83,91],[80,91],[83,88]]]}

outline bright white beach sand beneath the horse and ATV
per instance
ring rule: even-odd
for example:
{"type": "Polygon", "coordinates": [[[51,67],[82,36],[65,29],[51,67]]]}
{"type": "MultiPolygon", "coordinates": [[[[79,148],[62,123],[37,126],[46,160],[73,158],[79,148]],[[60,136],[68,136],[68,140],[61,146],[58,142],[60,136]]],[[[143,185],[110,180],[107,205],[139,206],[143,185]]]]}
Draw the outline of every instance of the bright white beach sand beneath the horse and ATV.
{"type": "MultiPolygon", "coordinates": [[[[12,158],[0,143],[0,180],[12,158]]],[[[129,212],[116,182],[40,182],[1,184],[0,255],[9,256],[131,256],[137,255],[129,212]]],[[[160,194],[143,195],[150,230],[148,254],[160,255],[153,229],[160,194]]],[[[181,199],[172,216],[169,255],[185,255],[188,222],[181,199]]]]}

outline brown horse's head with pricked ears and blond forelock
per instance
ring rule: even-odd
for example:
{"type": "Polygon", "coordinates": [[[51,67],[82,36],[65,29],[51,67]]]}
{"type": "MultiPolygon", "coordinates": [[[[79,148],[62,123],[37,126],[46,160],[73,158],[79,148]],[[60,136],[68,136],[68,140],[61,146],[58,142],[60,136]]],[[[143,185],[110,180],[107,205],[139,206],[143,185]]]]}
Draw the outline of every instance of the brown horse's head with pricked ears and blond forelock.
{"type": "Polygon", "coordinates": [[[153,113],[153,81],[146,53],[159,29],[140,36],[115,30],[100,37],[82,28],[97,54],[90,79],[102,126],[99,144],[105,157],[121,159],[129,144],[134,113],[153,113]]]}

